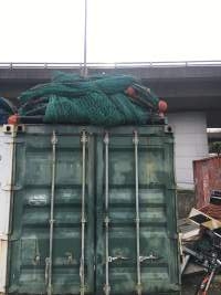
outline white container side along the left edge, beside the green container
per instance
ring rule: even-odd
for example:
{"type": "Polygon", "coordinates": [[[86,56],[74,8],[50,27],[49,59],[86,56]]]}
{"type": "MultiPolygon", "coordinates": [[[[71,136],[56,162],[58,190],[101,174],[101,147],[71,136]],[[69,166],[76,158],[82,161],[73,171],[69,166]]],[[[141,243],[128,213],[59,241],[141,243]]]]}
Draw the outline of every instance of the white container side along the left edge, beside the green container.
{"type": "Polygon", "coordinates": [[[13,135],[0,134],[0,293],[6,293],[10,203],[12,197],[13,135]]]}

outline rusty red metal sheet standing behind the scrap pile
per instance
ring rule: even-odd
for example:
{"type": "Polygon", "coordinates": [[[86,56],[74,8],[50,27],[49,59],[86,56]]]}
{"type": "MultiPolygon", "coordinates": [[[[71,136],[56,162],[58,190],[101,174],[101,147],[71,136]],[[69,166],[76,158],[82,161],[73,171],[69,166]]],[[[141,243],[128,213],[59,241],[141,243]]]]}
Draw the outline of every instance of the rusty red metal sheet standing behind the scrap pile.
{"type": "Polygon", "coordinates": [[[221,190],[221,157],[193,161],[196,202],[200,209],[210,202],[212,190],[221,190]]]}

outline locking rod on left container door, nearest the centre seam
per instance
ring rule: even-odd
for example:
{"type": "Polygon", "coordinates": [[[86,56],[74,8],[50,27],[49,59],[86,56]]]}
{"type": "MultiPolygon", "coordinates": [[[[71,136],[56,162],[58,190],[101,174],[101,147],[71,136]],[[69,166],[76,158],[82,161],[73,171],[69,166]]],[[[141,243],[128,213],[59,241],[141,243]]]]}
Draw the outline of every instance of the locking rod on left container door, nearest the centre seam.
{"type": "Polygon", "coordinates": [[[85,259],[85,182],[86,182],[86,133],[83,130],[82,133],[82,255],[80,263],[80,278],[81,278],[81,295],[84,295],[85,292],[85,274],[84,274],[84,259],[85,259]]]}

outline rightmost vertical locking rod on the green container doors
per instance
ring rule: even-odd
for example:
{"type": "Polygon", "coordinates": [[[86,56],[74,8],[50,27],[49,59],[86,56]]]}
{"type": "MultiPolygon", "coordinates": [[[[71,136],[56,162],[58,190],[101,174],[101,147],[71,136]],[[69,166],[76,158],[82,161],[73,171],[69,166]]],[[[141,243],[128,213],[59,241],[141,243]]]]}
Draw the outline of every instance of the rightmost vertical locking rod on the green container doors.
{"type": "Polygon", "coordinates": [[[140,236],[139,236],[139,178],[138,178],[138,134],[134,131],[135,145],[135,196],[136,196],[136,247],[137,247],[137,294],[141,295],[141,274],[140,274],[140,236]]]}

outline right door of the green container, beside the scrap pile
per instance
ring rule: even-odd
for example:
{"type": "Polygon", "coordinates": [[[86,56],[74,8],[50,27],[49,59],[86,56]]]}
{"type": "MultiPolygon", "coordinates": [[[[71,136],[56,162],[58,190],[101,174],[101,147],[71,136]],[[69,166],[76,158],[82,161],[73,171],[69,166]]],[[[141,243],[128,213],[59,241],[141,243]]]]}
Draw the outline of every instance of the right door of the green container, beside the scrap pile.
{"type": "Polygon", "coordinates": [[[171,136],[110,130],[97,158],[97,294],[179,293],[171,136]]]}

